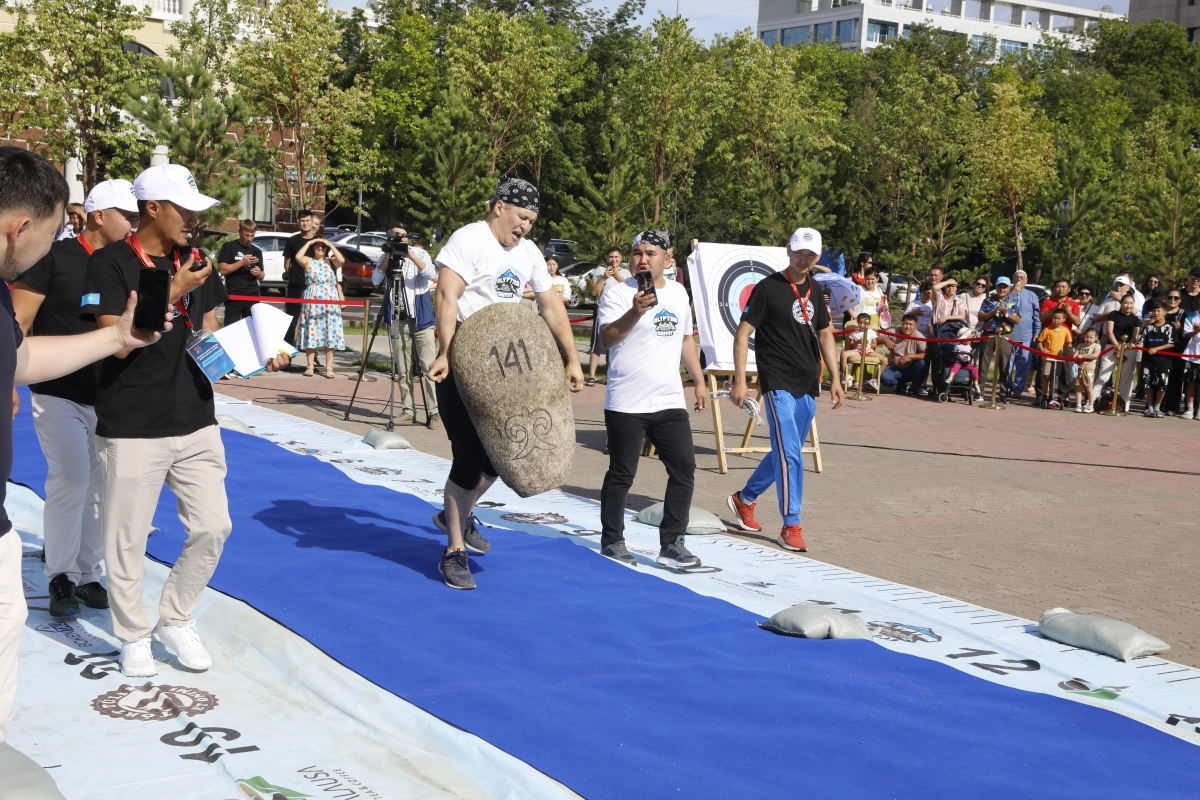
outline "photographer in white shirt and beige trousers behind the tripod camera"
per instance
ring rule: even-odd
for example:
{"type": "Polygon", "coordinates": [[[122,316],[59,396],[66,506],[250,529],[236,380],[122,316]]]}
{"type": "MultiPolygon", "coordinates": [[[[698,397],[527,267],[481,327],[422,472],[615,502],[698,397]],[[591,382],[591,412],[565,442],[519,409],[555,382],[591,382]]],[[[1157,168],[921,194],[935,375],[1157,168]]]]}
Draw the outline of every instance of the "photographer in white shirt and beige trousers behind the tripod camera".
{"type": "Polygon", "coordinates": [[[438,397],[434,383],[430,380],[430,367],[438,357],[438,339],[433,329],[433,302],[430,300],[430,288],[437,283],[438,273],[433,269],[430,254],[409,242],[404,228],[392,228],[383,246],[383,255],[371,275],[371,283],[379,285],[386,278],[390,263],[400,261],[395,267],[395,278],[401,279],[404,289],[404,306],[391,307],[389,293],[384,314],[389,321],[395,317],[400,329],[398,351],[396,359],[396,378],[400,383],[400,419],[407,425],[416,419],[416,404],[413,402],[413,351],[421,366],[421,386],[425,391],[426,427],[431,431],[442,429],[442,415],[438,414],[438,397]]]}

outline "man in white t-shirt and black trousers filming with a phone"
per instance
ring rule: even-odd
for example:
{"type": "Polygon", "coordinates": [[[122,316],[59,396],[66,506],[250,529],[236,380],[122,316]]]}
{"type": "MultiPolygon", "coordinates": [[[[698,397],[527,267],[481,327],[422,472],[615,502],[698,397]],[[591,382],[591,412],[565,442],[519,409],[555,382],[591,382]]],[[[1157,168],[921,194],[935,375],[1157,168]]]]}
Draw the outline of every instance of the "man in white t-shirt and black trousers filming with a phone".
{"type": "Polygon", "coordinates": [[[700,559],[684,546],[691,513],[696,455],[684,399],[679,363],[696,384],[697,413],[708,408],[708,392],[691,331],[691,305],[682,284],[664,272],[671,236],[643,230],[634,237],[629,259],[634,276],[604,293],[600,338],[608,348],[608,386],[604,419],[608,432],[608,471],[600,489],[600,553],[630,566],[637,560],[625,547],[625,498],[637,475],[642,441],[659,451],[667,470],[658,563],[695,569],[700,559]],[[638,273],[654,279],[654,294],[638,289],[638,273]]]}

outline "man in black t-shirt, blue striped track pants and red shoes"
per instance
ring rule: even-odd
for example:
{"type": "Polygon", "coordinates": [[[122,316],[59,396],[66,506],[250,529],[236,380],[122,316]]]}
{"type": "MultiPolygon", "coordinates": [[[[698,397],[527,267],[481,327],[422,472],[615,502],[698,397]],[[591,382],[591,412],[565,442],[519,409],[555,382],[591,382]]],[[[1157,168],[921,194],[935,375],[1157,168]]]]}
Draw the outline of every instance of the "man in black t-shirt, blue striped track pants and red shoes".
{"type": "Polygon", "coordinates": [[[815,285],[810,277],[820,257],[821,234],[811,228],[797,229],[787,248],[787,269],[763,278],[754,288],[733,339],[731,399],[742,405],[750,393],[746,360],[750,336],[755,337],[755,360],[767,409],[770,452],[758,463],[745,487],[728,498],[728,506],[737,515],[740,528],[762,530],[754,518],[754,505],[774,482],[779,512],[784,517],[784,529],[778,540],[790,551],[808,549],[800,531],[804,494],[802,447],[817,411],[822,359],[833,381],[829,393],[834,408],[841,405],[844,396],[829,309],[821,287],[815,285]]]}

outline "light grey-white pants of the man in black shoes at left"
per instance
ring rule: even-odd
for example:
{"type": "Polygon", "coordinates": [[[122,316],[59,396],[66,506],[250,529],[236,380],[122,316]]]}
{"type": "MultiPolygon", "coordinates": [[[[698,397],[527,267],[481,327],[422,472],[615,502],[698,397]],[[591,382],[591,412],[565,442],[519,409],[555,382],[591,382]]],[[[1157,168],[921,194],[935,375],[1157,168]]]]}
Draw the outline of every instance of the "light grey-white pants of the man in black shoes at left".
{"type": "Polygon", "coordinates": [[[46,577],[65,575],[77,587],[100,581],[104,474],[96,453],[96,411],[61,397],[36,392],[32,397],[34,427],[50,468],[42,512],[46,577]]]}

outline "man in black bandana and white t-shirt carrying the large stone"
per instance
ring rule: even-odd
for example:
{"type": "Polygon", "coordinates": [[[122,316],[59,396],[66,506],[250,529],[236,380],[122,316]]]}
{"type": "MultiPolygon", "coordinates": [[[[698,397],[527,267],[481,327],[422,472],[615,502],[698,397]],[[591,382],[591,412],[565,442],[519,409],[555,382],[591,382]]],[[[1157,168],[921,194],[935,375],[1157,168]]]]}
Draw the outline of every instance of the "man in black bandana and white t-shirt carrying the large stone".
{"type": "Polygon", "coordinates": [[[546,259],[526,234],[540,210],[538,188],[518,178],[500,179],[487,218],[460,228],[438,253],[438,357],[430,365],[430,380],[438,384],[438,408],[454,462],[446,481],[445,510],[433,517],[446,533],[448,547],[438,571],[452,589],[474,589],[467,551],[486,553],[491,545],[479,533],[472,510],[496,481],[496,468],[467,414],[449,351],[460,323],[494,302],[520,302],[528,285],[538,299],[541,318],[566,354],[571,391],[583,387],[580,355],[566,319],[566,306],[553,289],[546,259]]]}

